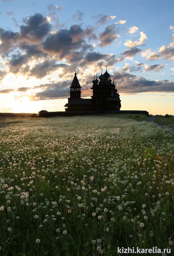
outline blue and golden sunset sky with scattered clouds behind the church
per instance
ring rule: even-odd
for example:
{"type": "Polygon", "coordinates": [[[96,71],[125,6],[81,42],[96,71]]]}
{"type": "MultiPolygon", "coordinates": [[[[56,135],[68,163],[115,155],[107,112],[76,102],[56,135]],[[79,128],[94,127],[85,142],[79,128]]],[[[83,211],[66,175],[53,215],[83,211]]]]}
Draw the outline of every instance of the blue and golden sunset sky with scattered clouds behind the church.
{"type": "Polygon", "coordinates": [[[174,115],[173,0],[0,0],[0,112],[64,111],[106,70],[121,110],[174,115]]]}

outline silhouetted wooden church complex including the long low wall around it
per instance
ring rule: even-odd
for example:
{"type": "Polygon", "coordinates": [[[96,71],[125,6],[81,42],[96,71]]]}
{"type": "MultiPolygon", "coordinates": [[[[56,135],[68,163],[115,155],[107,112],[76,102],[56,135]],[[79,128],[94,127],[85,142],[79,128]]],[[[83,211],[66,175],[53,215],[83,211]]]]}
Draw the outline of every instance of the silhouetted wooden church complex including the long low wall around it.
{"type": "Polygon", "coordinates": [[[92,83],[93,85],[90,89],[93,90],[93,95],[91,96],[91,99],[81,98],[81,86],[75,71],[75,76],[70,86],[70,98],[68,98],[68,103],[64,105],[65,111],[48,112],[46,110],[41,110],[38,112],[39,116],[73,116],[98,113],[136,113],[149,115],[148,112],[144,110],[120,110],[121,100],[119,92],[114,81],[112,82],[110,79],[107,67],[105,73],[101,73],[99,76],[99,80],[97,75],[96,77],[94,76],[92,83]]]}

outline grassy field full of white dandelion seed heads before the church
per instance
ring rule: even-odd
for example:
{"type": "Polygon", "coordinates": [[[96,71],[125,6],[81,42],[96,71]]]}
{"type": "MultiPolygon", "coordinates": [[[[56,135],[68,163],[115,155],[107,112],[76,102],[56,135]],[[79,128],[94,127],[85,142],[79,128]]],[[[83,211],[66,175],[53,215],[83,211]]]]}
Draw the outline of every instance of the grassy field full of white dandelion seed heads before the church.
{"type": "Polygon", "coordinates": [[[170,128],[114,115],[0,127],[0,255],[116,256],[137,246],[173,251],[170,128]]]}

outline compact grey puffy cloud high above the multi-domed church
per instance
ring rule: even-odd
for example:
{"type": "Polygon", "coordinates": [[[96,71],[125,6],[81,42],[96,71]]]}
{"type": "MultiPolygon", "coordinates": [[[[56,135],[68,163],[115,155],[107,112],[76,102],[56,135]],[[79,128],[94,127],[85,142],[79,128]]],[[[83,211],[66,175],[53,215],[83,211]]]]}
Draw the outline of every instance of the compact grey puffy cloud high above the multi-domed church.
{"type": "Polygon", "coordinates": [[[104,32],[99,35],[99,46],[105,47],[106,45],[111,44],[113,41],[116,41],[120,35],[115,33],[115,29],[112,26],[107,26],[104,32]]]}

